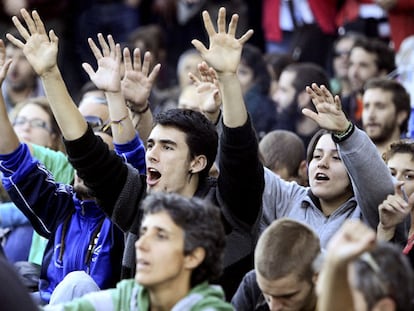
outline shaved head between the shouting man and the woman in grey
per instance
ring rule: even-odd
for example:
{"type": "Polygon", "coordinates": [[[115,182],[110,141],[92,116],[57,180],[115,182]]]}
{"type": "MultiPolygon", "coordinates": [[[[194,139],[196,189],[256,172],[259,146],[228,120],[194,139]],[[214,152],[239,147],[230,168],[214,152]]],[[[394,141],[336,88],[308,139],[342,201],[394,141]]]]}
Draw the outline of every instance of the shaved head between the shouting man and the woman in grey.
{"type": "Polygon", "coordinates": [[[285,130],[271,131],[260,141],[259,151],[263,165],[275,174],[286,181],[308,185],[305,145],[298,135],[285,130]]]}

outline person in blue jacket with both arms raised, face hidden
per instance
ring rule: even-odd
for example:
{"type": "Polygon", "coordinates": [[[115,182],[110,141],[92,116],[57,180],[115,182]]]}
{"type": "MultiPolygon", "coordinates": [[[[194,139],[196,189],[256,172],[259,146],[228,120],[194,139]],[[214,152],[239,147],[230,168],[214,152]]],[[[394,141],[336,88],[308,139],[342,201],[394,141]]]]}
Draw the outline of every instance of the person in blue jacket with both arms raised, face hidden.
{"type": "MultiPolygon", "coordinates": [[[[99,39],[103,40],[102,37],[99,39]]],[[[113,41],[110,41],[110,44],[114,45],[113,41]]],[[[105,64],[111,62],[120,68],[120,58],[112,54],[105,64]]],[[[88,73],[94,83],[105,91],[110,117],[118,120],[120,117],[117,113],[122,113],[123,116],[122,128],[119,126],[120,122],[109,123],[115,135],[114,142],[128,144],[129,150],[124,147],[122,152],[125,160],[133,164],[143,163],[144,149],[141,148],[138,139],[133,139],[136,134],[121,95],[120,73],[112,72],[115,76],[112,81],[118,83],[108,86],[104,79],[102,82],[102,72],[105,77],[108,77],[108,73],[105,73],[101,63],[98,66],[99,73],[88,73]],[[118,97],[115,96],[114,88],[117,88],[118,97]],[[122,100],[119,101],[119,98],[122,100]],[[120,105],[121,108],[116,105],[120,105]],[[139,158],[139,161],[134,162],[134,156],[139,158]]],[[[37,297],[36,302],[48,302],[56,285],[71,271],[83,270],[90,274],[99,289],[114,286],[120,277],[123,233],[105,217],[89,188],[77,174],[73,188],[54,183],[50,173],[31,157],[27,146],[19,143],[6,115],[1,117],[2,130],[8,135],[8,139],[2,141],[0,152],[5,188],[36,230],[49,238],[42,262],[39,295],[33,295],[37,297]]],[[[113,149],[112,138],[105,132],[105,127],[101,128],[99,135],[109,148],[113,149]]],[[[145,170],[143,167],[137,168],[145,170]]]]}

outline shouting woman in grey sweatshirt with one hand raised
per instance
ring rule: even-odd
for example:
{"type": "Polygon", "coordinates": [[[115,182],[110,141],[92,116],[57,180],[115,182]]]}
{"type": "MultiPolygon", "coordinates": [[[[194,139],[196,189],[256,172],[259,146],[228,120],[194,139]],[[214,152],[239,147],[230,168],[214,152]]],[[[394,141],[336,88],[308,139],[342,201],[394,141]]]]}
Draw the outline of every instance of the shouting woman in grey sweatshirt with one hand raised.
{"type": "Polygon", "coordinates": [[[309,187],[265,169],[260,231],[275,219],[289,217],[308,224],[324,248],[346,219],[362,219],[376,228],[378,205],[394,185],[375,145],[346,118],[339,97],[316,84],[307,92],[317,112],[302,113],[323,128],[307,149],[309,187]]]}

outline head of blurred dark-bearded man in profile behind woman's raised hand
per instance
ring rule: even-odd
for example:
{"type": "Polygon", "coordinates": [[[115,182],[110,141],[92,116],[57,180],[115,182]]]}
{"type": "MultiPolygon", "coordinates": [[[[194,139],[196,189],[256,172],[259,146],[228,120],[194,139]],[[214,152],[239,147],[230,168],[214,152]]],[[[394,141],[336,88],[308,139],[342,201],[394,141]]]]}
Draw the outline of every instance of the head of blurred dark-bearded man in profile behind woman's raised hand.
{"type": "Polygon", "coordinates": [[[303,108],[314,110],[306,86],[329,86],[328,75],[324,69],[312,63],[298,63],[287,66],[281,73],[279,88],[275,94],[277,102],[277,127],[296,133],[305,147],[319,129],[318,125],[302,114],[303,108]]]}

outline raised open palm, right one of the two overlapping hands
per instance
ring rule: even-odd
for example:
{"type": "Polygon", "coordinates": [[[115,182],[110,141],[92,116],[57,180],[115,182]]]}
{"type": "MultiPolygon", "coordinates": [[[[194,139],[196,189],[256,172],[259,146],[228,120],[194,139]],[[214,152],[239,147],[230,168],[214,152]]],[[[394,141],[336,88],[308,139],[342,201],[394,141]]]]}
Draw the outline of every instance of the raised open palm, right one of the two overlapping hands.
{"type": "Polygon", "coordinates": [[[157,64],[150,72],[150,64],[150,52],[145,53],[144,62],[141,64],[140,50],[135,49],[134,62],[132,63],[129,49],[124,49],[125,73],[121,87],[128,105],[134,111],[140,111],[147,105],[152,86],[160,71],[161,65],[157,64]]]}

